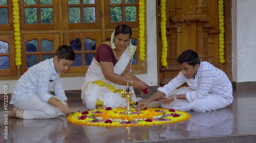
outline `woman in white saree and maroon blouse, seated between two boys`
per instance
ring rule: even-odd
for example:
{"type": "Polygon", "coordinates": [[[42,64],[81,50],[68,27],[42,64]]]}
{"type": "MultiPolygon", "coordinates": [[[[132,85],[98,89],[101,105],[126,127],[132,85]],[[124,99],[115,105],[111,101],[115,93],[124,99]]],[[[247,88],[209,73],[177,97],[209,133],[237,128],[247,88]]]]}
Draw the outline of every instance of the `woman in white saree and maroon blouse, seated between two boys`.
{"type": "MultiPolygon", "coordinates": [[[[82,85],[81,98],[89,109],[106,107],[126,107],[125,92],[129,83],[133,87],[147,89],[148,85],[137,78],[131,71],[136,46],[131,44],[132,29],[120,24],[111,35],[111,39],[102,42],[96,50],[93,62],[86,73],[82,85]]],[[[131,106],[138,101],[133,94],[131,106]]]]}

